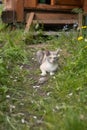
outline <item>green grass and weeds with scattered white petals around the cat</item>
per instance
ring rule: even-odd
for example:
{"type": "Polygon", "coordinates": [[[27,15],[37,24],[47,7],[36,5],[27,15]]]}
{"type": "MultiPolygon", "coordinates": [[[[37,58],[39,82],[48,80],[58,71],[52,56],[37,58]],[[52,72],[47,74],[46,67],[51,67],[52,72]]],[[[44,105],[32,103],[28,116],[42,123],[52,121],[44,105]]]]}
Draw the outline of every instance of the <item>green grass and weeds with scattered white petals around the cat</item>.
{"type": "Polygon", "coordinates": [[[25,35],[22,29],[2,30],[2,26],[0,130],[87,130],[87,42],[78,41],[73,30],[48,41],[42,35],[33,38],[33,31],[25,35]],[[60,69],[38,84],[36,51],[58,47],[60,69]]]}

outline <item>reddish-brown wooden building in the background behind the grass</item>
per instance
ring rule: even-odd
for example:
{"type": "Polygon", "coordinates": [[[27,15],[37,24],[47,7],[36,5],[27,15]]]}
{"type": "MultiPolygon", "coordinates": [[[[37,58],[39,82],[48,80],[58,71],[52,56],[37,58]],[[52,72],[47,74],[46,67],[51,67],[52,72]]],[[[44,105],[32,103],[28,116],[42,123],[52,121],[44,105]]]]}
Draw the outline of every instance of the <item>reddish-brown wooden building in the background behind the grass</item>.
{"type": "Polygon", "coordinates": [[[78,14],[72,13],[74,8],[82,8],[86,15],[87,0],[4,0],[1,18],[4,23],[27,21],[27,26],[32,21],[43,24],[81,24],[78,14]]]}

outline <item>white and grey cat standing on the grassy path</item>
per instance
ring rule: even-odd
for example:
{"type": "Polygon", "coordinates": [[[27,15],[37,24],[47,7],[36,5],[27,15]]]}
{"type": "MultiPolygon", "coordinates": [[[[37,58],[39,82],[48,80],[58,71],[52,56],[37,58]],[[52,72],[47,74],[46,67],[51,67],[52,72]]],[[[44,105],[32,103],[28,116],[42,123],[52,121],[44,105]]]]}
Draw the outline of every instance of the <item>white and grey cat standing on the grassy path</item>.
{"type": "Polygon", "coordinates": [[[47,72],[50,75],[54,75],[55,71],[58,69],[58,58],[60,49],[56,51],[44,51],[39,50],[37,52],[37,60],[40,64],[41,76],[46,76],[47,72]]]}

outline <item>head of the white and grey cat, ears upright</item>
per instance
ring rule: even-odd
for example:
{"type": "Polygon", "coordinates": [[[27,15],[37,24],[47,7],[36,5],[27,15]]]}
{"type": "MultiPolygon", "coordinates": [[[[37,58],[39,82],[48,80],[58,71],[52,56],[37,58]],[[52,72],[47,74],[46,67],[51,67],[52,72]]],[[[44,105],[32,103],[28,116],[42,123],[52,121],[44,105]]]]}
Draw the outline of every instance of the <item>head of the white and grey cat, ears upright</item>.
{"type": "Polygon", "coordinates": [[[49,63],[56,63],[58,61],[60,49],[56,51],[46,51],[46,59],[49,63]]]}

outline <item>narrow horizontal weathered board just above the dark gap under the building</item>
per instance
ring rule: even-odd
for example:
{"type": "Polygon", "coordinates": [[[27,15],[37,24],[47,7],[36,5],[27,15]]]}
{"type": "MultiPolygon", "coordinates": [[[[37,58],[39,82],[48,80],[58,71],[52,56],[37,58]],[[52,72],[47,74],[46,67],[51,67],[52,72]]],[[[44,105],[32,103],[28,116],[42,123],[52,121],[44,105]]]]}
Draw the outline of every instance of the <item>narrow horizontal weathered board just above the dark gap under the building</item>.
{"type": "MultiPolygon", "coordinates": [[[[66,20],[39,20],[40,24],[73,24],[77,23],[78,20],[66,19],[66,20]]],[[[37,20],[33,20],[33,23],[37,23],[37,20]]]]}

